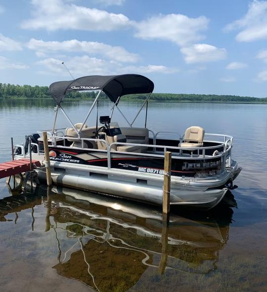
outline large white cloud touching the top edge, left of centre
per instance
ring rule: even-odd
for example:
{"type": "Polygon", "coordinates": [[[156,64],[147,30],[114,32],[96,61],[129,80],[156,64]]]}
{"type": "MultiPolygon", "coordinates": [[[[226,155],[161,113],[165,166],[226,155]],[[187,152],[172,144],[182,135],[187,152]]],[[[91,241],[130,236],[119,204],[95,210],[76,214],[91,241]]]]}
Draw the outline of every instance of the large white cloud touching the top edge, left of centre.
{"type": "Polygon", "coordinates": [[[78,6],[66,0],[32,0],[32,4],[33,18],[22,22],[24,29],[112,31],[131,24],[123,14],[78,6]]]}

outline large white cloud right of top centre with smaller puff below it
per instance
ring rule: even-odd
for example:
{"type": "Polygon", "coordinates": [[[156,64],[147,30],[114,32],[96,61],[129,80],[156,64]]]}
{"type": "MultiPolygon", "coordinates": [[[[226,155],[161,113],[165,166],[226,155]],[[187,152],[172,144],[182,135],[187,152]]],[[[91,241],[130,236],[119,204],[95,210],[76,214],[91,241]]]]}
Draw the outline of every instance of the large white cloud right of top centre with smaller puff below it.
{"type": "Polygon", "coordinates": [[[205,36],[209,20],[205,16],[189,18],[182,14],[160,14],[141,22],[133,22],[135,37],[169,40],[181,47],[186,63],[206,63],[226,58],[226,50],[205,43],[196,43],[205,36]]]}

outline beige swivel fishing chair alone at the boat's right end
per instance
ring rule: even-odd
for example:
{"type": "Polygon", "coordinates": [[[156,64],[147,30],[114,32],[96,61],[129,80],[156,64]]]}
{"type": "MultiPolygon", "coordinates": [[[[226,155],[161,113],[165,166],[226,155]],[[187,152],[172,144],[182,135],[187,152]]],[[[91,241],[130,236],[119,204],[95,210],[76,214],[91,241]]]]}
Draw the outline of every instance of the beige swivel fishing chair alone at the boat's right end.
{"type": "Polygon", "coordinates": [[[179,147],[202,147],[205,131],[201,127],[193,126],[186,129],[184,133],[184,142],[179,147]]]}

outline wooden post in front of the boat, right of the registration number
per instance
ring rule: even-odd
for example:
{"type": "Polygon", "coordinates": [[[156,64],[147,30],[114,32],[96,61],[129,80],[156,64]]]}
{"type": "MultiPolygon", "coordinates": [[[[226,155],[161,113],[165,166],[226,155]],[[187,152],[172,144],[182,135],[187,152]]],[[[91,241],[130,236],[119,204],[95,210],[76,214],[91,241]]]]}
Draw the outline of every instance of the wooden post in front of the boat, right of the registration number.
{"type": "Polygon", "coordinates": [[[162,200],[162,220],[169,222],[170,214],[170,191],[171,191],[171,167],[172,152],[166,151],[164,156],[164,181],[163,181],[163,200],[162,200]]]}

